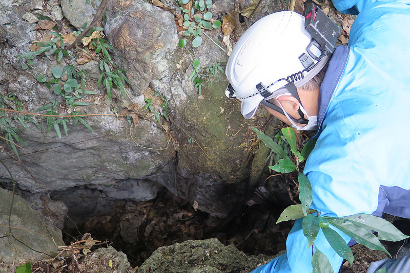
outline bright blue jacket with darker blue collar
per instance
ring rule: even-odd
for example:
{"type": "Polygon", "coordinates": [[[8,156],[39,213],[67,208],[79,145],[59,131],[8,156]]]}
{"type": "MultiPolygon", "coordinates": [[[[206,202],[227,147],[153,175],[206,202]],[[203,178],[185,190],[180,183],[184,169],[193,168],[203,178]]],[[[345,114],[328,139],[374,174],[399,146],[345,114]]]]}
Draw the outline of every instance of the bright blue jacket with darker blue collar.
{"type": "MultiPolygon", "coordinates": [[[[384,211],[410,218],[410,1],[333,3],[358,16],[348,47],[336,48],[320,88],[318,140],[304,168],[312,208],[327,216],[384,211]]],[[[322,232],[315,245],[338,272],[343,259],[322,232]]],[[[301,220],[286,250],[252,273],[312,272],[301,220]]]]}

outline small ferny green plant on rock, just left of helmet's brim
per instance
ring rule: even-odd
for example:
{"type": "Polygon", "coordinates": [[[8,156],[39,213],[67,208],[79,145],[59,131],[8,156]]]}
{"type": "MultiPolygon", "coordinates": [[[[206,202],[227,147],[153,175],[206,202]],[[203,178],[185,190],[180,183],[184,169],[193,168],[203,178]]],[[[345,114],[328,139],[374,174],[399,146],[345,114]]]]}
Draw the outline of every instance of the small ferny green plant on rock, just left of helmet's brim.
{"type": "Polygon", "coordinates": [[[198,88],[199,95],[202,94],[202,86],[205,85],[207,80],[208,84],[214,89],[214,83],[210,80],[213,76],[216,77],[217,82],[219,82],[218,71],[223,73],[223,69],[220,66],[220,62],[217,62],[213,65],[208,65],[206,67],[199,66],[200,62],[197,58],[192,61],[193,70],[189,79],[194,82],[194,86],[198,88]]]}

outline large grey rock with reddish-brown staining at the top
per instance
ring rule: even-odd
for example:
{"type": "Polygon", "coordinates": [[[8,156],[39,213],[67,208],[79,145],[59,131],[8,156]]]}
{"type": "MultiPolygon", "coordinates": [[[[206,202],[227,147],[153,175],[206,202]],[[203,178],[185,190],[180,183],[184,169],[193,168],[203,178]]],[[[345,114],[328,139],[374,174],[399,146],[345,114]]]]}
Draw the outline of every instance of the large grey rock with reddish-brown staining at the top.
{"type": "Polygon", "coordinates": [[[135,95],[162,74],[165,55],[178,44],[174,16],[143,0],[110,1],[105,32],[135,95]]]}

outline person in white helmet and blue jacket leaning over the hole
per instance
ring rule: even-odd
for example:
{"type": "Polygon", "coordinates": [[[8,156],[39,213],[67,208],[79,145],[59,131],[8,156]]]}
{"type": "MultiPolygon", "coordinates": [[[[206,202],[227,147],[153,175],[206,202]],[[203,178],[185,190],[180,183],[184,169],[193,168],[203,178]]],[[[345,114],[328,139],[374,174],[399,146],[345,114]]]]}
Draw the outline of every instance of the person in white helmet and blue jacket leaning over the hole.
{"type": "MultiPolygon", "coordinates": [[[[303,172],[312,184],[311,208],[321,216],[384,212],[410,218],[410,35],[404,27],[410,23],[410,5],[408,0],[333,4],[342,13],[358,15],[348,46],[335,47],[337,27],[312,3],[304,16],[290,11],[268,15],[236,43],[225,93],[241,101],[245,119],[262,104],[298,130],[318,129],[303,172]]],[[[329,259],[333,272],[339,271],[343,258],[321,231],[315,249],[329,259]]],[[[309,273],[311,259],[299,219],[286,240],[286,253],[253,273],[309,273]]],[[[368,272],[383,264],[392,272],[410,272],[410,263],[397,269],[382,261],[368,272]]]]}

